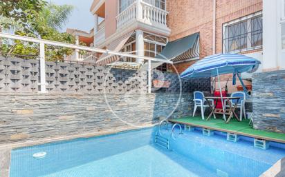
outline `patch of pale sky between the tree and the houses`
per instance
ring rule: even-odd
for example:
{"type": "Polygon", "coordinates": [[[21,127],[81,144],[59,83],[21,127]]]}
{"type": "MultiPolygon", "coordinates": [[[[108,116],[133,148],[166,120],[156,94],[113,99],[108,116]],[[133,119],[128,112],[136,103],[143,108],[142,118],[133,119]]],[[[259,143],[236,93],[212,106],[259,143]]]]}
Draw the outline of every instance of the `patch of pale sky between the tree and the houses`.
{"type": "Polygon", "coordinates": [[[48,0],[57,5],[69,4],[74,6],[73,13],[69,18],[66,26],[62,28],[62,32],[66,28],[75,28],[89,32],[93,28],[93,15],[89,11],[93,0],[48,0]]]}

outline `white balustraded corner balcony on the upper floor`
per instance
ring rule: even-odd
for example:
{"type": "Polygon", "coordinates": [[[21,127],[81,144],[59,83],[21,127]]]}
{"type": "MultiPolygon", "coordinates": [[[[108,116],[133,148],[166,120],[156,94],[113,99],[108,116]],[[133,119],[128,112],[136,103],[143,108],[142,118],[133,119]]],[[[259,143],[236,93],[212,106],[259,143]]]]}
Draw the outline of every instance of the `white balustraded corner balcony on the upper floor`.
{"type": "Polygon", "coordinates": [[[124,11],[116,17],[117,30],[126,28],[129,25],[137,23],[141,27],[156,28],[159,32],[169,34],[170,30],[167,28],[167,14],[168,12],[157,8],[151,3],[145,1],[134,1],[124,11]]]}

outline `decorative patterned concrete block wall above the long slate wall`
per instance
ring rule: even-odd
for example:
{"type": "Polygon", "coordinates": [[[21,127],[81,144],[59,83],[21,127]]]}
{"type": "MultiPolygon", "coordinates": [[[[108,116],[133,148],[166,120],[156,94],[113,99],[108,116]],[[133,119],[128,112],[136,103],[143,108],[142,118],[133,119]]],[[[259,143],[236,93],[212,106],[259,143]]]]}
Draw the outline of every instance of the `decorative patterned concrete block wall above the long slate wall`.
{"type": "MultiPolygon", "coordinates": [[[[195,90],[210,92],[210,79],[178,79],[177,74],[163,73],[170,81],[169,88],[154,92],[191,93],[195,90]],[[181,84],[180,84],[181,82],[181,84]]],[[[0,56],[0,93],[39,91],[39,61],[0,56]]],[[[157,74],[152,74],[157,79],[157,74]]],[[[146,93],[147,72],[123,70],[78,63],[46,61],[46,90],[49,93],[123,94],[146,93]]]]}

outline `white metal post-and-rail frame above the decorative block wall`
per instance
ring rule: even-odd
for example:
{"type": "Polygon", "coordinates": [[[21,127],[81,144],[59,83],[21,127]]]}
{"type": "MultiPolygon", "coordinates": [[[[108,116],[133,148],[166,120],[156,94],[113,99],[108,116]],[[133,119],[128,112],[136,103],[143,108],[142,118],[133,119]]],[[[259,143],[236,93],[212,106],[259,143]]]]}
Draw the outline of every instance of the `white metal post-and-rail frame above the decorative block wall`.
{"type": "MultiPolygon", "coordinates": [[[[163,63],[170,63],[172,64],[172,61],[165,60],[165,59],[156,59],[152,58],[149,56],[139,56],[135,54],[128,54],[128,53],[123,53],[123,52],[116,52],[116,51],[111,51],[111,50],[104,50],[100,48],[91,48],[91,47],[85,47],[82,45],[75,45],[71,43],[61,43],[57,41],[49,41],[49,40],[44,40],[44,39],[37,39],[33,37],[23,37],[15,34],[7,34],[4,32],[0,32],[0,38],[6,38],[6,39],[16,39],[20,41],[28,41],[32,43],[39,43],[39,76],[40,76],[40,92],[41,93],[46,93],[46,59],[45,59],[45,45],[55,45],[59,47],[64,47],[64,48],[72,48],[75,50],[84,50],[84,51],[89,51],[89,52],[98,52],[101,54],[113,54],[113,55],[118,55],[118,56],[126,56],[130,58],[135,58],[135,59],[143,59],[147,60],[149,63],[148,67],[148,92],[151,93],[151,61],[158,61],[158,62],[163,62],[163,63]]],[[[100,62],[99,60],[96,61],[96,63],[100,62]]]]}

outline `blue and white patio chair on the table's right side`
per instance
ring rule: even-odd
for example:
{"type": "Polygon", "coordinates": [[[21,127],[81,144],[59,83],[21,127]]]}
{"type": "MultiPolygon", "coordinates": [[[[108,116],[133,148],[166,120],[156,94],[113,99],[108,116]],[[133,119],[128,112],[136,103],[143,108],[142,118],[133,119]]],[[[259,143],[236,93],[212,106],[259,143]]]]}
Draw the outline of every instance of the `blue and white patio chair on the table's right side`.
{"type": "MultiPolygon", "coordinates": [[[[245,92],[233,92],[232,94],[230,94],[230,97],[239,97],[239,101],[237,102],[237,100],[230,100],[230,104],[232,105],[232,107],[235,107],[235,104],[237,103],[237,108],[239,108],[240,112],[239,112],[239,120],[242,121],[242,116],[244,116],[244,118],[246,118],[246,93],[245,92]]],[[[226,103],[226,101],[224,102],[224,105],[226,105],[226,107],[230,107],[230,105],[228,105],[226,103]]]]}

